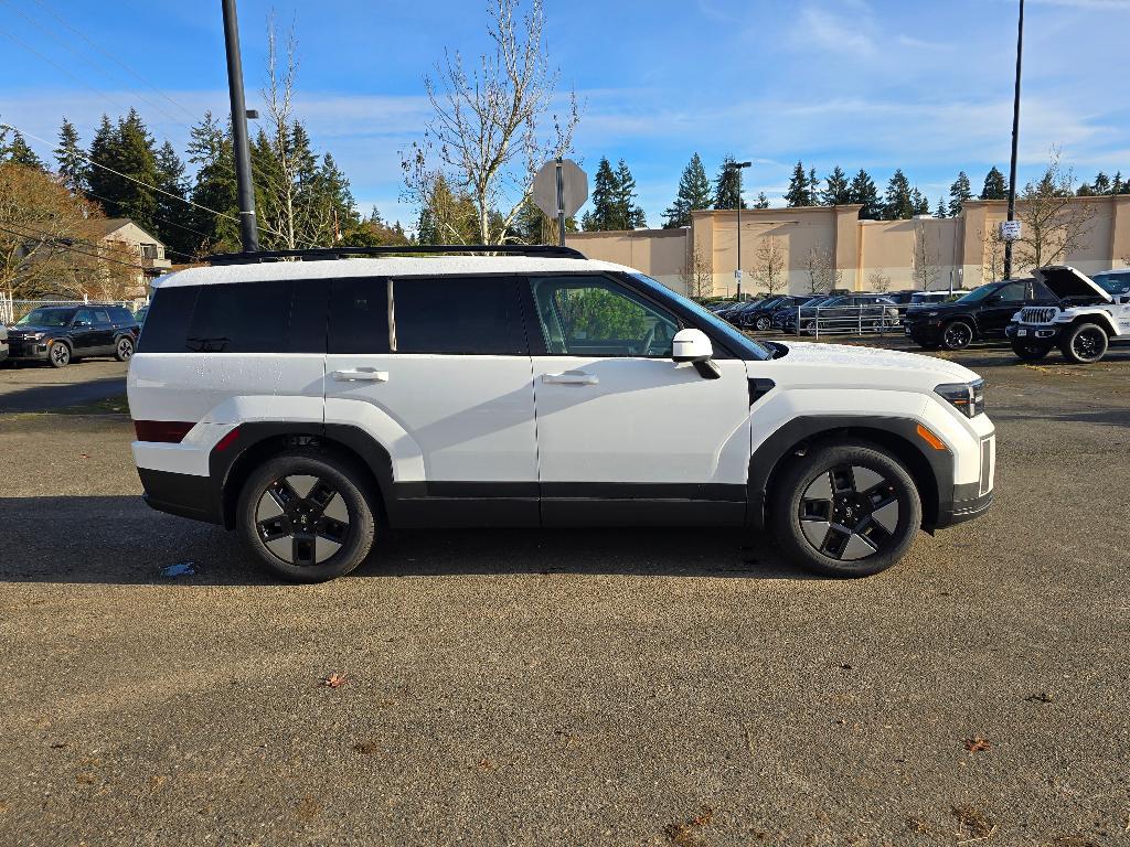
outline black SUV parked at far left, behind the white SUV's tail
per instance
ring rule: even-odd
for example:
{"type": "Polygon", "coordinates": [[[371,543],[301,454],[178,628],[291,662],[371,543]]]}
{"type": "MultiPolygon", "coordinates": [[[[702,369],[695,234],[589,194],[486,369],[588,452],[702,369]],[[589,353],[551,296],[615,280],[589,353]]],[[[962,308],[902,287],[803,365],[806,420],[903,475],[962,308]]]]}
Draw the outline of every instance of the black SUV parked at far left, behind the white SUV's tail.
{"type": "Polygon", "coordinates": [[[8,329],[14,361],[47,361],[61,368],[87,356],[133,356],[141,328],[123,306],[44,306],[8,329]]]}

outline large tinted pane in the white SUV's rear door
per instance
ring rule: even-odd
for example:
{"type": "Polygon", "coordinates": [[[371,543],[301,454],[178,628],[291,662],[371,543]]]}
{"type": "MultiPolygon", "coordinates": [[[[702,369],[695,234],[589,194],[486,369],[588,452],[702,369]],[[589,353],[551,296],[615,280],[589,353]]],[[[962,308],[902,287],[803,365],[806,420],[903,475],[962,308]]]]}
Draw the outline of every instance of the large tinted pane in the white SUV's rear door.
{"type": "Polygon", "coordinates": [[[508,277],[393,282],[397,351],[524,356],[518,288],[508,277]]]}

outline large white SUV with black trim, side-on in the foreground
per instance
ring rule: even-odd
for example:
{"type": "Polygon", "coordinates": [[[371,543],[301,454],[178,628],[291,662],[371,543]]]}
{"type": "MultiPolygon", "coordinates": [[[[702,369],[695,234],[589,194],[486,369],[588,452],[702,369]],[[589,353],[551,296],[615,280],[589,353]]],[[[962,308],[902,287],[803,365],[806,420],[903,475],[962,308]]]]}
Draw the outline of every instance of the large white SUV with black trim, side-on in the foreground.
{"type": "Polygon", "coordinates": [[[149,504],[316,582],[386,527],[440,526],[772,529],[860,576],[992,503],[971,370],[758,343],[629,268],[492,251],[160,279],[129,373],[149,504]]]}

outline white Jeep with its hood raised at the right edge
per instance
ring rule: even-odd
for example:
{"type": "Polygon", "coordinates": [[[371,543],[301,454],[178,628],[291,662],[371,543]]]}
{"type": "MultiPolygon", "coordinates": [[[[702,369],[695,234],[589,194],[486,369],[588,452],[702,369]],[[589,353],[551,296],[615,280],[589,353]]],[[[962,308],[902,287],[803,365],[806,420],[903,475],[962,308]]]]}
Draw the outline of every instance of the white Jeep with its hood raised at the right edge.
{"type": "Polygon", "coordinates": [[[1130,269],[1088,277],[1070,265],[1033,276],[1060,298],[1057,306],[1025,306],[1006,334],[1022,359],[1042,359],[1053,347],[1080,365],[1098,361],[1111,343],[1130,342],[1130,269]]]}

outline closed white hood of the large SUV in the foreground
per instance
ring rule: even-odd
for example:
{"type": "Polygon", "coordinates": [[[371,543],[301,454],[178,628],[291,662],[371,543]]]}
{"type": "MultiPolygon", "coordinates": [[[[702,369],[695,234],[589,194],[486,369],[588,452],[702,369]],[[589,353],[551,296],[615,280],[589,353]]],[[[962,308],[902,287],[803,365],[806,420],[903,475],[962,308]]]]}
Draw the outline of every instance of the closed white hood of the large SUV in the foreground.
{"type": "Polygon", "coordinates": [[[936,356],[883,350],[877,347],[788,342],[786,356],[773,361],[791,368],[802,368],[819,375],[829,385],[875,386],[921,390],[922,378],[941,383],[967,383],[980,378],[967,367],[936,356]]]}

